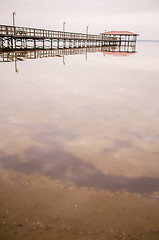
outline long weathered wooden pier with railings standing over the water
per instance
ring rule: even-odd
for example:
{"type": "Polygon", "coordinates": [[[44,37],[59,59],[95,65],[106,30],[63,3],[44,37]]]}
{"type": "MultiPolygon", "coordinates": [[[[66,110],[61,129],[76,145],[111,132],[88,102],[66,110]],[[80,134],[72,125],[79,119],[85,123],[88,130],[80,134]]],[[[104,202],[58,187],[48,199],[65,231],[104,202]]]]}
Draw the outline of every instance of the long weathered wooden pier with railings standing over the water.
{"type": "Polygon", "coordinates": [[[137,34],[126,33],[128,38],[106,34],[83,34],[17,26],[0,25],[1,49],[59,49],[136,44],[137,34]]]}

